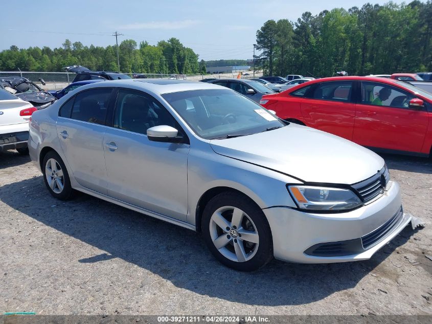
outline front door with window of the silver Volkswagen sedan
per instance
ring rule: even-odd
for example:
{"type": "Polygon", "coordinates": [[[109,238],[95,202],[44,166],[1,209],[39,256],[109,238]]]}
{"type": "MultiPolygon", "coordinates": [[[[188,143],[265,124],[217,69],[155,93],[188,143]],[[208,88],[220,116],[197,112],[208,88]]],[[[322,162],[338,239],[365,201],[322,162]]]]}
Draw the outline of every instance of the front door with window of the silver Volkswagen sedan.
{"type": "Polygon", "coordinates": [[[190,145],[150,141],[147,129],[157,125],[183,134],[156,99],[141,91],[119,90],[113,124],[103,139],[108,196],[186,221],[190,145]]]}

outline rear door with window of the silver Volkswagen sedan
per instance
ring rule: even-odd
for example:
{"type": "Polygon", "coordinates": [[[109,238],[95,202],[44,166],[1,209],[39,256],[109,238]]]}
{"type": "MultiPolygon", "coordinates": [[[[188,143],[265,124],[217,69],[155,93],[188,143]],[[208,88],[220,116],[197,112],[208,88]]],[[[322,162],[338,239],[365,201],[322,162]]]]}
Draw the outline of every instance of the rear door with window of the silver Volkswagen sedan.
{"type": "Polygon", "coordinates": [[[85,188],[107,193],[103,136],[111,88],[78,93],[60,107],[57,133],[67,163],[85,188]]]}

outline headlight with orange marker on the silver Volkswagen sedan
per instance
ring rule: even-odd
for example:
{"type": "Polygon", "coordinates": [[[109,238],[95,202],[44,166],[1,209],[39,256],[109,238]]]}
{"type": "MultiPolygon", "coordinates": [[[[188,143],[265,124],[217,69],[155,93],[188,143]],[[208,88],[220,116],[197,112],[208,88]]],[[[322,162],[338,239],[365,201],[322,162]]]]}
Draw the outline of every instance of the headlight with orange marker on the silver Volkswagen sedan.
{"type": "Polygon", "coordinates": [[[292,185],[288,190],[300,209],[310,211],[347,210],[362,204],[349,189],[292,185]]]}

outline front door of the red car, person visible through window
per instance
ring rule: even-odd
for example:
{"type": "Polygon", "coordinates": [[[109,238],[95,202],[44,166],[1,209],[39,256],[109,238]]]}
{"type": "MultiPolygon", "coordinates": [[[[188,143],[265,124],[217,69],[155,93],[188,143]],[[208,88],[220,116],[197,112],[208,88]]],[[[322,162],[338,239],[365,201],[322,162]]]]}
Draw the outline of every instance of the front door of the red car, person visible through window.
{"type": "Polygon", "coordinates": [[[378,82],[361,82],[353,141],[369,147],[421,152],[428,113],[408,107],[414,94],[378,82]],[[390,90],[390,91],[389,91],[390,90]]]}

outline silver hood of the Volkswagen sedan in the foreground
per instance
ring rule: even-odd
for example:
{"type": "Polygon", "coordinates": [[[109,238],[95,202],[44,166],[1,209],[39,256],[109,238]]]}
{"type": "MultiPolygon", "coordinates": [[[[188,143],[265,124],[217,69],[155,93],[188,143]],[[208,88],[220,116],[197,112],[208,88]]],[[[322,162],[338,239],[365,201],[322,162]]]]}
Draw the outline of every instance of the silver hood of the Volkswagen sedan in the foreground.
{"type": "Polygon", "coordinates": [[[211,140],[217,154],[306,182],[353,184],[375,175],[384,160],[371,150],[317,129],[289,124],[254,135],[211,140]]]}

